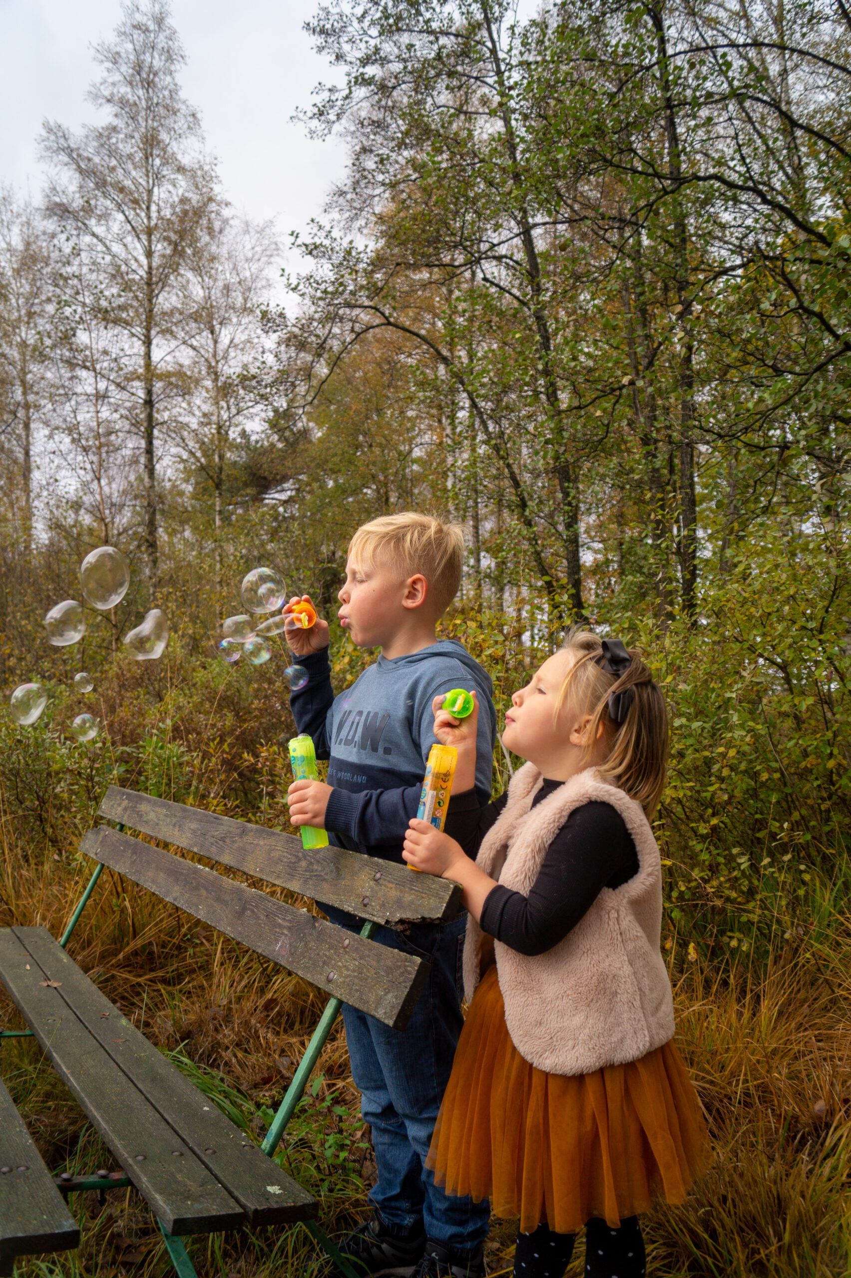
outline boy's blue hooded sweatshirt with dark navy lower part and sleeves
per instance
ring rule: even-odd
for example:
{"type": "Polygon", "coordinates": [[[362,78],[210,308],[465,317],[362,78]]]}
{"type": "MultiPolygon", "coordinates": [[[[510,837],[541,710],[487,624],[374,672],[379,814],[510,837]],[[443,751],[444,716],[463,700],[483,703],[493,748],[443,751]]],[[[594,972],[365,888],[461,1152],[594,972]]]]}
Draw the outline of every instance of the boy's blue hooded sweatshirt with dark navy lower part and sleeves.
{"type": "Polygon", "coordinates": [[[290,695],[299,732],[313,737],[317,759],[328,759],[334,792],[325,817],[337,847],[401,860],[417,815],[428,751],[434,745],[432,700],[451,688],[478,691],[475,790],[491,799],[496,711],[491,676],[455,639],[441,639],[405,657],[378,657],[339,697],[331,688],[328,649],[300,658],[308,682],[290,695]]]}

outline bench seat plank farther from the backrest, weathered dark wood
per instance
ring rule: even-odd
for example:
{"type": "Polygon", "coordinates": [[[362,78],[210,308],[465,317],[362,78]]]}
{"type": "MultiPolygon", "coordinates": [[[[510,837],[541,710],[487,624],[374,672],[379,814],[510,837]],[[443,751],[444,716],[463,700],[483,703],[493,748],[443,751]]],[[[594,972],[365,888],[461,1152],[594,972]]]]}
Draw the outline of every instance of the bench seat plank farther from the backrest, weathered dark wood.
{"type": "MultiPolygon", "coordinates": [[[[245,1213],[103,1051],[20,943],[0,932],[0,979],[57,1074],[169,1233],[208,1233],[245,1213]]],[[[116,1035],[118,1036],[118,1035],[116,1035]]]]}

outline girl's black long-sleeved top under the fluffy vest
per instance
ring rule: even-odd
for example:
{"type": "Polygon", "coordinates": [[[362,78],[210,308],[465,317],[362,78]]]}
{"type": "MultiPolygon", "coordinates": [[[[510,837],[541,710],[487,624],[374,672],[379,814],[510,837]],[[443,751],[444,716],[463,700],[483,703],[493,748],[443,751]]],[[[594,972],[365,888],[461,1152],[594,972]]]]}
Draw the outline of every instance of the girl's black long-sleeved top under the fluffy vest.
{"type": "MultiPolygon", "coordinates": [[[[544,780],[533,808],[561,785],[544,780]]],[[[454,796],[446,833],[468,856],[475,856],[506,803],[507,795],[501,795],[482,808],[474,790],[454,796]]],[[[607,803],[583,804],[547,849],[529,896],[497,883],[484,901],[479,924],[519,953],[544,953],[576,927],[604,887],[621,887],[638,870],[635,843],[620,812],[607,803]]]]}

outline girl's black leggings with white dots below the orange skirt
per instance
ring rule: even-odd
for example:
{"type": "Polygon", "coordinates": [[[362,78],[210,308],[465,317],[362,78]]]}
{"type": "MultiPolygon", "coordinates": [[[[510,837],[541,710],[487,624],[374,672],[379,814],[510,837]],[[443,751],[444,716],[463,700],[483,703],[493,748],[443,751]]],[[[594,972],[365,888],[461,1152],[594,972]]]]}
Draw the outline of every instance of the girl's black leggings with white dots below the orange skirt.
{"type": "MultiPolygon", "coordinates": [[[[575,1233],[553,1233],[539,1224],[518,1235],[514,1278],[562,1278],[574,1251],[575,1233]]],[[[612,1229],[597,1217],[585,1226],[585,1278],[643,1278],[644,1238],[636,1215],[612,1229]]]]}

